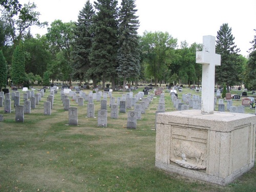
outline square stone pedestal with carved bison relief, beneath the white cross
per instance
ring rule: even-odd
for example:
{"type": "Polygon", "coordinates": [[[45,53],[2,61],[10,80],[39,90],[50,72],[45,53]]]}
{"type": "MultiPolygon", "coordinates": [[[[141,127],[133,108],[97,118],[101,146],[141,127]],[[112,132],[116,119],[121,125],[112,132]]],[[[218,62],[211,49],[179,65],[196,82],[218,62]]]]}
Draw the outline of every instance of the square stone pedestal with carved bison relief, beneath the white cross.
{"type": "Polygon", "coordinates": [[[157,114],[156,167],[226,185],[254,165],[256,116],[201,110],[157,114]]]}

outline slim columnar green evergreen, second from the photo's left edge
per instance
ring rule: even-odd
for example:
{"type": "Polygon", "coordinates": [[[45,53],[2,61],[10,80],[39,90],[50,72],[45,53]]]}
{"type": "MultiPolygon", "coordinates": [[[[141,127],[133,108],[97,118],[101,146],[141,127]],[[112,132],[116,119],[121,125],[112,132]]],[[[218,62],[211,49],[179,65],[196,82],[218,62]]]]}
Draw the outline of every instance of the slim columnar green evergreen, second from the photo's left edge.
{"type": "Polygon", "coordinates": [[[25,53],[22,41],[19,42],[13,53],[11,78],[12,82],[17,84],[17,87],[21,87],[26,80],[25,53]]]}

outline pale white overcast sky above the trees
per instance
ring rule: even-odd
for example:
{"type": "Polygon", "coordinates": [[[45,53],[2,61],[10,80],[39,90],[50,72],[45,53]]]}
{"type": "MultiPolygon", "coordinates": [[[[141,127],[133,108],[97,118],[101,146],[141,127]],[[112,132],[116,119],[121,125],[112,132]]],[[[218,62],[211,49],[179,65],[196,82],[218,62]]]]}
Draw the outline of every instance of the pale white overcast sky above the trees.
{"type": "MultiPolygon", "coordinates": [[[[119,0],[120,2],[121,0],[119,0]]],[[[19,0],[21,4],[29,0],[19,0]]],[[[76,21],[86,0],[31,0],[40,12],[40,22],[49,25],[55,20],[76,21]]],[[[93,4],[93,0],[90,0],[93,4]]],[[[234,42],[240,54],[247,56],[249,43],[256,34],[256,0],[137,0],[139,35],[146,31],[168,32],[178,41],[188,44],[202,43],[204,35],[217,36],[224,23],[232,28],[234,42]]],[[[33,34],[45,34],[47,29],[31,30],[33,34]]]]}

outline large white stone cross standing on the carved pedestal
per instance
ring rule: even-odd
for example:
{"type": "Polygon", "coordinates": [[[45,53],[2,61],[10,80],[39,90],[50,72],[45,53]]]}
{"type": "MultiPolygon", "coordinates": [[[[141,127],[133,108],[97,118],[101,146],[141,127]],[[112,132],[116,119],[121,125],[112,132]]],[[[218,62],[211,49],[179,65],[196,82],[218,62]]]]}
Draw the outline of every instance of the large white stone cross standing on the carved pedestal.
{"type": "Polygon", "coordinates": [[[214,114],[215,66],[221,65],[221,55],[215,53],[215,36],[203,36],[203,51],[197,51],[196,63],[202,67],[202,114],[214,114]]]}

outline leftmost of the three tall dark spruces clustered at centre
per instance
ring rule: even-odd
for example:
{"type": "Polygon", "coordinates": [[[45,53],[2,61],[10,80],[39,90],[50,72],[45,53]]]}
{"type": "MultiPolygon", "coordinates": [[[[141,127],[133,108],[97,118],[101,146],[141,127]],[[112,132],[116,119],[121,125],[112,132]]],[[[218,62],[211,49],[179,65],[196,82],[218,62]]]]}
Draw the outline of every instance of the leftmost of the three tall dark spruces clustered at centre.
{"type": "Polygon", "coordinates": [[[74,61],[72,67],[74,70],[74,77],[78,78],[80,82],[84,77],[87,77],[88,79],[90,78],[86,73],[90,69],[89,54],[92,48],[92,18],[94,15],[95,11],[93,6],[90,1],[87,0],[82,10],[79,11],[78,19],[75,23],[74,45],[73,51],[71,52],[74,61]]]}

